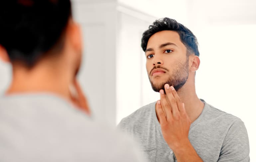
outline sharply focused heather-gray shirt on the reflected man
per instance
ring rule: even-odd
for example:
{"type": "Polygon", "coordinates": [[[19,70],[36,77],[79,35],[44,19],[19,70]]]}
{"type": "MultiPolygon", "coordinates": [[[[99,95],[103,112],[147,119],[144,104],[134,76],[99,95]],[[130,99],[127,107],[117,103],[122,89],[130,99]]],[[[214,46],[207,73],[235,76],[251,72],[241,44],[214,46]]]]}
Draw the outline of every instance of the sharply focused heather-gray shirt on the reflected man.
{"type": "MultiPolygon", "coordinates": [[[[123,118],[118,127],[137,138],[150,162],[177,161],[163,138],[155,104],[146,105],[123,118]]],[[[190,126],[189,140],[204,162],[250,161],[244,123],[207,103],[190,126]]]]}

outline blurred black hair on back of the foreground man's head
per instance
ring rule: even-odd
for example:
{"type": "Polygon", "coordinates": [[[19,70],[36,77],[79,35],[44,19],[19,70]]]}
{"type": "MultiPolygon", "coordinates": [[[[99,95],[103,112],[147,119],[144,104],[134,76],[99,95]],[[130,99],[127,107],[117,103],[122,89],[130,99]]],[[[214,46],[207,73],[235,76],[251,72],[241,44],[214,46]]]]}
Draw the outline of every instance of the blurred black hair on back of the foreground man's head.
{"type": "Polygon", "coordinates": [[[11,62],[32,67],[50,50],[62,49],[70,17],[70,0],[1,1],[0,44],[11,62]]]}

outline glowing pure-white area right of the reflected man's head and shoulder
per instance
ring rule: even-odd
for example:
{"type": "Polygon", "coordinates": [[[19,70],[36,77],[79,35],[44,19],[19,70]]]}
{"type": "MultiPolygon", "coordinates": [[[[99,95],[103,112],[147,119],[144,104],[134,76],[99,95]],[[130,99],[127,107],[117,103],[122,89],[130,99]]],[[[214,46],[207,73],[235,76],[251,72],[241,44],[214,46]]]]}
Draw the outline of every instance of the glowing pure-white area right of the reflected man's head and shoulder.
{"type": "Polygon", "coordinates": [[[201,52],[197,94],[242,119],[249,136],[251,161],[256,160],[255,29],[256,24],[208,26],[197,35],[201,52]]]}

